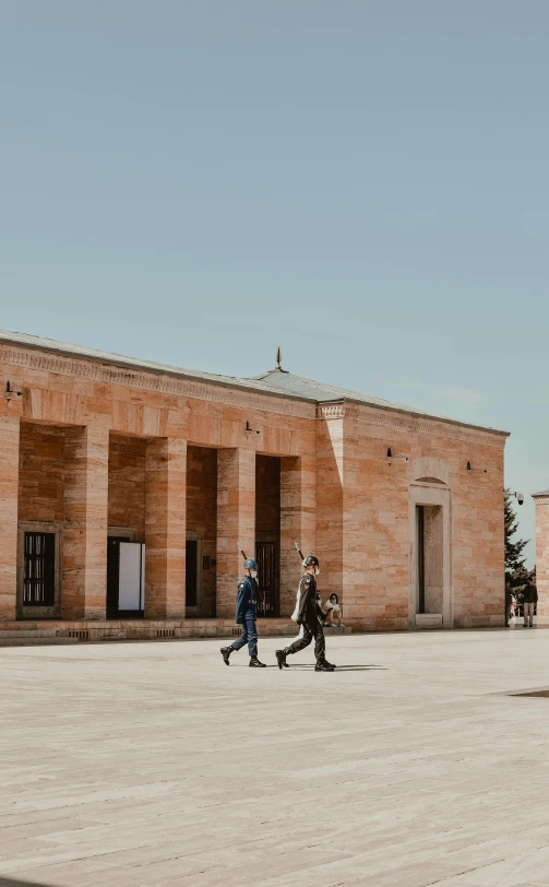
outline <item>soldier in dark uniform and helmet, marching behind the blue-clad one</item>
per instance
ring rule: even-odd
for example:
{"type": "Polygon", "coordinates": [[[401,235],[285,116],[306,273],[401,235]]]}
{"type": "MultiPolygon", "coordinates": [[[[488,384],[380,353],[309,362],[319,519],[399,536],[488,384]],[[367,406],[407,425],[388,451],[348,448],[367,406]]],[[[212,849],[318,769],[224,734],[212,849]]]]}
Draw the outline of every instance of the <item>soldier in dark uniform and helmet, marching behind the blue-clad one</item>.
{"type": "Polygon", "coordinates": [[[303,626],[303,637],[298,638],[286,647],[285,650],[276,651],[276,661],[278,667],[288,666],[286,657],[291,653],[298,653],[309,647],[314,638],[314,655],[317,658],[315,672],[333,672],[335,665],[326,661],[326,642],[324,640],[324,631],[322,630],[322,623],[324,622],[324,613],[320,606],[320,595],[317,591],[315,576],[320,572],[319,558],[314,555],[309,555],[303,560],[305,575],[301,577],[299,583],[299,604],[297,612],[297,624],[303,626]]]}

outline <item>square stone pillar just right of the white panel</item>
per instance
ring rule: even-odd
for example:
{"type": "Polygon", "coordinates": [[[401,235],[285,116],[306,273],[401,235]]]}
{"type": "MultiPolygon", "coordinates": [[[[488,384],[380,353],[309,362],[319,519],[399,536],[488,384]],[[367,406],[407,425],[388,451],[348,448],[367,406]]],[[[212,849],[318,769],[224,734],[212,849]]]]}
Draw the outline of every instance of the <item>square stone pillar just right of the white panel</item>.
{"type": "Polygon", "coordinates": [[[145,459],[145,618],[184,619],[187,440],[154,438],[145,459]]]}

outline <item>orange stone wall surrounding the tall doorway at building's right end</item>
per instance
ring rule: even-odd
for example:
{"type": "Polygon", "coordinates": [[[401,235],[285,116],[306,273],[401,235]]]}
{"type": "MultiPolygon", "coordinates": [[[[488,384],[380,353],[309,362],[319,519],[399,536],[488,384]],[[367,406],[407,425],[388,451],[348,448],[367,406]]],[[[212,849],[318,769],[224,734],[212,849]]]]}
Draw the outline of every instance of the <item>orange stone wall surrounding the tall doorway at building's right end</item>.
{"type": "MultiPolygon", "coordinates": [[[[408,504],[415,483],[450,490],[451,624],[502,625],[504,438],[467,434],[458,426],[441,429],[434,421],[380,415],[368,407],[347,407],[341,422],[341,461],[332,477],[343,473],[344,478],[345,619],[355,628],[411,627],[408,504]],[[408,461],[390,461],[389,448],[408,461]],[[468,461],[476,471],[467,471],[468,461]]],[[[319,492],[325,499],[322,482],[319,492]]],[[[338,593],[337,582],[330,590],[338,593]]]]}

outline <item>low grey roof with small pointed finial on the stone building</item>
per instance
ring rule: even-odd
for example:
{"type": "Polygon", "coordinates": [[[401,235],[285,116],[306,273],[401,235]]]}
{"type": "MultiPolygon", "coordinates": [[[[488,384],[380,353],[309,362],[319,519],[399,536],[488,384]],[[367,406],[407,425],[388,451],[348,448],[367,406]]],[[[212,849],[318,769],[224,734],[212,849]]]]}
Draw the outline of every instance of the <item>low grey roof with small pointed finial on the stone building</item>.
{"type": "MultiPolygon", "coordinates": [[[[317,404],[342,403],[349,402],[356,404],[363,404],[367,406],[375,406],[381,410],[391,410],[398,413],[416,417],[432,418],[439,422],[447,422],[452,425],[462,425],[466,428],[476,428],[484,431],[491,431],[497,435],[509,436],[509,431],[500,431],[496,428],[489,428],[481,425],[472,425],[467,422],[458,422],[456,419],[440,416],[434,413],[425,413],[421,410],[416,410],[410,406],[404,406],[398,403],[373,398],[370,395],[359,394],[356,391],[349,391],[345,388],[337,388],[332,385],[324,385],[317,382],[312,379],[306,379],[302,376],[297,376],[294,372],[288,372],[277,366],[260,376],[250,378],[239,378],[235,376],[222,376],[214,372],[200,372],[194,369],[183,369],[181,367],[169,366],[168,364],[158,364],[154,360],[142,360],[135,357],[126,357],[121,354],[110,354],[108,352],[96,351],[95,348],[86,348],[82,345],[70,345],[65,342],[57,342],[53,339],[44,339],[38,335],[28,335],[27,333],[8,332],[0,330],[0,344],[19,345],[20,347],[33,348],[36,351],[46,351],[50,354],[58,354],[63,357],[83,357],[88,360],[95,360],[102,364],[109,364],[111,366],[124,367],[128,369],[135,369],[148,372],[159,372],[168,376],[175,376],[181,379],[189,379],[193,381],[211,382],[229,388],[243,388],[258,393],[270,394],[275,397],[289,398],[291,400],[308,401],[317,404]]],[[[541,495],[541,494],[538,494],[541,495]]]]}

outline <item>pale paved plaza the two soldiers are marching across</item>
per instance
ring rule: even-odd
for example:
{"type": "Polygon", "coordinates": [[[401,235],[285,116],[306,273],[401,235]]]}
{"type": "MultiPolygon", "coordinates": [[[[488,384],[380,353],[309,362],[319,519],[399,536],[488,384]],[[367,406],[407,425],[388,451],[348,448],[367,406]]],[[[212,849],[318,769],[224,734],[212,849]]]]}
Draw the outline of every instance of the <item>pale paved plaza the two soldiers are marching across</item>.
{"type": "Polygon", "coordinates": [[[549,631],[0,649],[0,884],[549,885],[549,631]]]}

